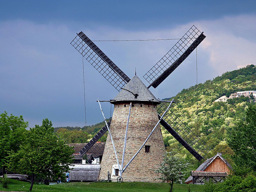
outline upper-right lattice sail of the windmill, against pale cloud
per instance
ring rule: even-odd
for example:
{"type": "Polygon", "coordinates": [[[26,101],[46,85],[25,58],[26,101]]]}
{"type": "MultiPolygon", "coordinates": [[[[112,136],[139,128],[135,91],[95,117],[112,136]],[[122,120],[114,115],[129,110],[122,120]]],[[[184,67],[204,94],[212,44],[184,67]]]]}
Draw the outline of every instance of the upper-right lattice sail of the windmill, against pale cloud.
{"type": "MultiPolygon", "coordinates": [[[[194,50],[194,48],[205,38],[205,36],[197,29],[194,25],[183,35],[183,37],[178,40],[178,42],[169,50],[165,56],[162,57],[143,77],[149,82],[150,86],[154,83],[154,81],[160,77],[166,70],[170,70],[170,67],[173,67],[172,71],[178,67],[178,65],[186,59],[186,57],[194,50]],[[194,42],[197,40],[199,41],[194,42]],[[192,44],[195,44],[191,47],[192,44]],[[192,48],[191,51],[187,51],[189,48],[192,48]],[[188,52],[184,55],[185,52],[188,52]],[[177,60],[178,64],[176,63],[177,60]]],[[[171,70],[170,70],[171,71],[171,70]]],[[[172,72],[171,71],[171,72],[172,72]]],[[[170,73],[170,72],[169,72],[170,73]]],[[[169,75],[169,74],[168,74],[169,75]]],[[[168,75],[165,75],[166,77],[168,75]]],[[[166,78],[165,77],[165,78],[166,78]]],[[[162,82],[162,81],[161,81],[162,82]]],[[[149,87],[150,87],[149,86],[149,87]]],[[[156,88],[158,85],[153,86],[156,88]]],[[[148,88],[149,88],[148,87],[148,88]]]]}

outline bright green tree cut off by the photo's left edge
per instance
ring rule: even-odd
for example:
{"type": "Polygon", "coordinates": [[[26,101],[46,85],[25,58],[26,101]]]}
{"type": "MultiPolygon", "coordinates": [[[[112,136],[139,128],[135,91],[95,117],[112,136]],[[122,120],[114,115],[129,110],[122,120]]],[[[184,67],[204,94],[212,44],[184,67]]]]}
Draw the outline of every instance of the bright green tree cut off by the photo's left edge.
{"type": "Polygon", "coordinates": [[[8,152],[18,151],[27,126],[28,122],[24,122],[22,116],[16,117],[12,114],[8,116],[6,111],[0,114],[0,167],[3,168],[3,177],[8,152]]]}

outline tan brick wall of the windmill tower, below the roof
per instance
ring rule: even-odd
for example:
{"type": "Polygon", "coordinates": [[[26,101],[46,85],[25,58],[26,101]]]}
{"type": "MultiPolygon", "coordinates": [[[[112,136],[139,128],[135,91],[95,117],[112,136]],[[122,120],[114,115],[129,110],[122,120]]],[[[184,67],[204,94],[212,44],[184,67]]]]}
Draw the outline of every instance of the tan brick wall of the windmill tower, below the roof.
{"type": "MultiPolygon", "coordinates": [[[[124,137],[129,113],[129,105],[130,103],[127,103],[126,107],[124,107],[124,104],[114,105],[114,112],[110,125],[110,131],[114,140],[114,145],[117,151],[120,165],[122,163],[124,137]]],[[[148,104],[142,104],[142,107],[140,107],[140,105],[141,104],[137,103],[134,104],[134,107],[131,107],[123,167],[125,167],[133,155],[142,146],[146,138],[149,136],[149,133],[158,122],[156,105],[152,106],[148,104]]],[[[160,180],[156,180],[159,175],[150,170],[158,168],[159,163],[162,162],[162,155],[164,154],[164,142],[159,125],[149,138],[146,145],[150,146],[149,153],[145,152],[144,146],[122,174],[123,181],[160,182],[160,180]]],[[[99,179],[106,179],[107,171],[110,171],[111,179],[116,181],[117,177],[120,176],[114,176],[114,173],[112,173],[112,166],[116,164],[117,161],[115,158],[114,149],[110,136],[108,135],[101,162],[99,179]]]]}

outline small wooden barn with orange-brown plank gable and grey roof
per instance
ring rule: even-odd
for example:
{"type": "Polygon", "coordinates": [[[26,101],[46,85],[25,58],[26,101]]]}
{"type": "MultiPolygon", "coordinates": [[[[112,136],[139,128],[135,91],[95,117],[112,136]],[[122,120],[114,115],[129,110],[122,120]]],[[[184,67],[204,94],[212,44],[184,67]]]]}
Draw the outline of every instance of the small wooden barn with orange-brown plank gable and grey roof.
{"type": "Polygon", "coordinates": [[[191,171],[191,176],[185,183],[203,185],[210,179],[214,183],[222,182],[230,173],[232,173],[232,166],[222,157],[222,153],[218,152],[217,155],[203,162],[196,171],[191,171]]]}

